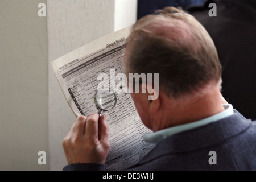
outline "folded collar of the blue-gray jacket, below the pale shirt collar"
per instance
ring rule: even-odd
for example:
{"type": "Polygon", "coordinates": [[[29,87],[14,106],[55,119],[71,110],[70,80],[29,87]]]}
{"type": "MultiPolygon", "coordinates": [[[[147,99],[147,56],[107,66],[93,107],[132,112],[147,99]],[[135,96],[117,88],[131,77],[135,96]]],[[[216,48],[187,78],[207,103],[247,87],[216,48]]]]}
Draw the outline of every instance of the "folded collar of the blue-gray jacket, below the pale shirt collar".
{"type": "Polygon", "coordinates": [[[163,139],[138,164],[147,163],[162,155],[212,146],[242,133],[250,125],[250,119],[246,119],[234,110],[234,114],[229,117],[163,139]]]}

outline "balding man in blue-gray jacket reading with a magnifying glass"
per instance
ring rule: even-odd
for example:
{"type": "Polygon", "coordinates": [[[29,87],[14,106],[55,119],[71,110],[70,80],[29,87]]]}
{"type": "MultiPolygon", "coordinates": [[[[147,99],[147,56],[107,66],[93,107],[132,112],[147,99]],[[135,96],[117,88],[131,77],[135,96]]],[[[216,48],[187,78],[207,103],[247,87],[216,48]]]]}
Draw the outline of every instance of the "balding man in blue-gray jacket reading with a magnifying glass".
{"type": "MultiPolygon", "coordinates": [[[[142,122],[154,131],[144,139],[157,144],[129,170],[255,170],[256,124],[221,96],[220,61],[203,26],[167,7],[138,20],[128,40],[126,74],[159,73],[156,100],[131,93],[142,122]]],[[[108,126],[105,116],[98,119],[77,118],[63,140],[64,170],[105,168],[108,126]]]]}

